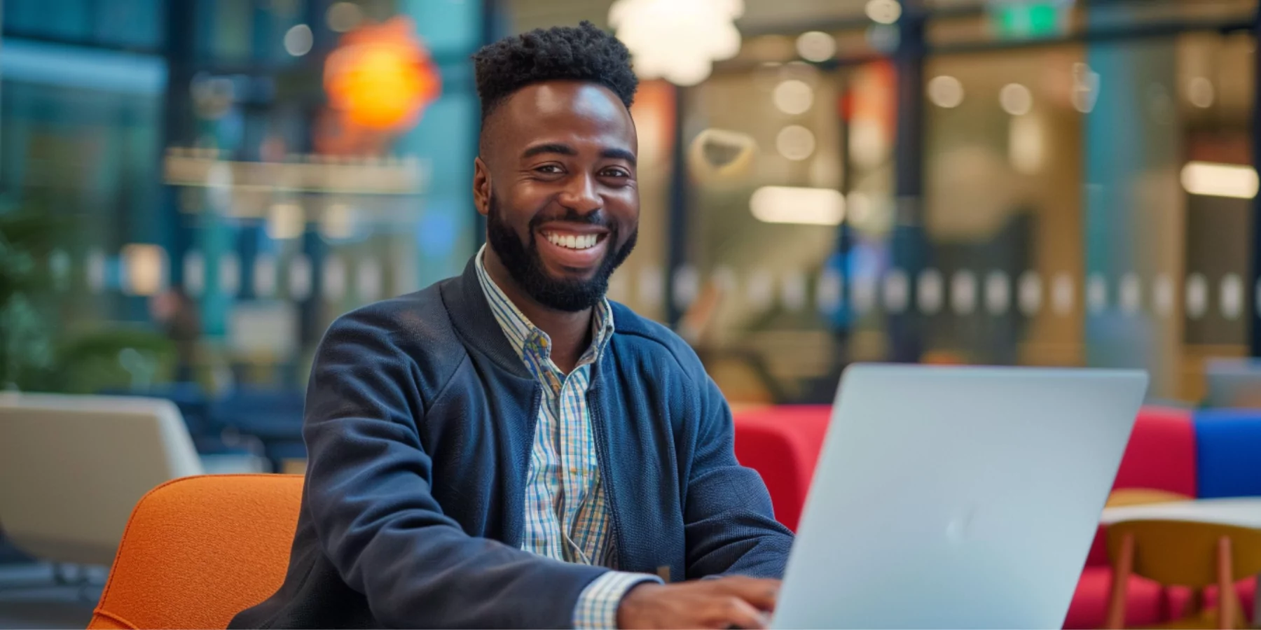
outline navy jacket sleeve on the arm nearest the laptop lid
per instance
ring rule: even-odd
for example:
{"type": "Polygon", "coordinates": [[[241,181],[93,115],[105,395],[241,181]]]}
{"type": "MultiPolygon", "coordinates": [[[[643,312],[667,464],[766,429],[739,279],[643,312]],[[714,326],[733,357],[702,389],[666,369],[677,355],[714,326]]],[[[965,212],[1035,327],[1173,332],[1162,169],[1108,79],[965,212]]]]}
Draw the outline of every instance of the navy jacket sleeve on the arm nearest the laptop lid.
{"type": "Polygon", "coordinates": [[[723,393],[702,368],[692,374],[700,413],[683,505],[687,578],[783,577],[792,532],[776,522],[762,478],[735,461],[731,410],[723,393]]]}

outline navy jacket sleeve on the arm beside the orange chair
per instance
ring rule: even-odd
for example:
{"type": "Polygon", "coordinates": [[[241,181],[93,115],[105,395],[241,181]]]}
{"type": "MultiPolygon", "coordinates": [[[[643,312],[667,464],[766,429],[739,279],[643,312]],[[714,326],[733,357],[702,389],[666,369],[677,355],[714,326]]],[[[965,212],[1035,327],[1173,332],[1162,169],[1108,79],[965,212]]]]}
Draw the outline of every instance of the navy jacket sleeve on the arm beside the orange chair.
{"type": "MultiPolygon", "coordinates": [[[[455,372],[469,368],[451,357],[455,372]]],[[[417,426],[431,403],[421,383],[438,392],[451,375],[425,372],[385,319],[348,315],[322,341],[303,433],[304,500],[323,553],[386,626],[571,626],[579,593],[607,570],[470,537],[443,514],[417,426]]]]}

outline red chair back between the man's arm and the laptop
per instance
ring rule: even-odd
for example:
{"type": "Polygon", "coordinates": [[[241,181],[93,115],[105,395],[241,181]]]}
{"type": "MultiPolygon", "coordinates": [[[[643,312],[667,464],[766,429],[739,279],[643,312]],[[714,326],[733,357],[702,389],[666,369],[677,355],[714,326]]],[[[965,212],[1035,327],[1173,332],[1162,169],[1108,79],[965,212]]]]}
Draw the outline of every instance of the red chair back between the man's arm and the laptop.
{"type": "Polygon", "coordinates": [[[832,407],[763,407],[735,415],[735,459],[757,470],[770,493],[776,519],[796,530],[806,504],[832,407]]]}

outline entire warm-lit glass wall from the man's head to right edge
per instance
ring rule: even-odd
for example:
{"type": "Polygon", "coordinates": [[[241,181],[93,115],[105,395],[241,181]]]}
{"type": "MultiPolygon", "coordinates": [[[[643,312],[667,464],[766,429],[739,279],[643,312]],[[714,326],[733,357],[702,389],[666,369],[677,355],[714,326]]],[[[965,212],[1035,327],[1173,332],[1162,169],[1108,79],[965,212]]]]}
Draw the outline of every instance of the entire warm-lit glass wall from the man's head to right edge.
{"type": "Polygon", "coordinates": [[[747,5],[641,169],[681,190],[670,244],[617,282],[729,398],[827,402],[847,362],[909,359],[1141,367],[1194,402],[1248,353],[1256,192],[1213,186],[1255,181],[1255,1],[747,5]]]}

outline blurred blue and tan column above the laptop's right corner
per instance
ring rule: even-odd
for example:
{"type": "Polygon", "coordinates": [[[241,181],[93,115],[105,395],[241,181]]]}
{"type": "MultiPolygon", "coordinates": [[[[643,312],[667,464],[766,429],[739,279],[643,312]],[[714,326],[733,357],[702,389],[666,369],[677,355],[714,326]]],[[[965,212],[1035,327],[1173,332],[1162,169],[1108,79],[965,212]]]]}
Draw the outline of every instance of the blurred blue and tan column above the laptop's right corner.
{"type": "MultiPolygon", "coordinates": [[[[1091,6],[1091,19],[1130,5],[1091,6]]],[[[1086,112],[1083,208],[1086,238],[1086,358],[1092,367],[1145,368],[1149,393],[1177,397],[1182,318],[1121,304],[1121,278],[1145,287],[1184,278],[1183,159],[1177,107],[1175,42],[1102,42],[1076,72],[1086,112]]],[[[1175,285],[1175,286],[1177,286],[1175,285]]],[[[1142,291],[1150,299],[1150,291],[1142,291]]],[[[1175,312],[1180,312],[1177,309],[1175,312]]]]}

